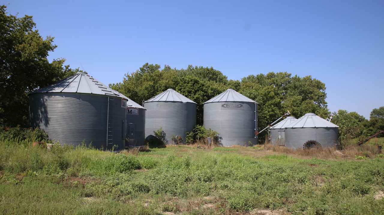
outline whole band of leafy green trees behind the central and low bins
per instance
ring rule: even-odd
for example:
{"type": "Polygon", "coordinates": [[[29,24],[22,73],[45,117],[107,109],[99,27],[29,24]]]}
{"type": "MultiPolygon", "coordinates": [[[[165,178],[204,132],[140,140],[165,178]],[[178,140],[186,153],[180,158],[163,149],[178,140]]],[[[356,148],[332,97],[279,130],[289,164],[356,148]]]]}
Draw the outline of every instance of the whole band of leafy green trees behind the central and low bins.
{"type": "Polygon", "coordinates": [[[110,85],[132,100],[142,103],[168,88],[173,88],[197,103],[197,124],[203,124],[203,103],[232,88],[259,103],[259,130],[275,121],[287,110],[295,117],[307,112],[328,116],[325,85],[311,76],[292,76],[287,72],[249,75],[228,80],[212,67],[189,65],[185,69],[165,65],[144,64],[136,72],[127,73],[122,82],[110,85]]]}

